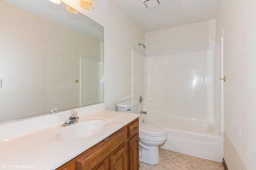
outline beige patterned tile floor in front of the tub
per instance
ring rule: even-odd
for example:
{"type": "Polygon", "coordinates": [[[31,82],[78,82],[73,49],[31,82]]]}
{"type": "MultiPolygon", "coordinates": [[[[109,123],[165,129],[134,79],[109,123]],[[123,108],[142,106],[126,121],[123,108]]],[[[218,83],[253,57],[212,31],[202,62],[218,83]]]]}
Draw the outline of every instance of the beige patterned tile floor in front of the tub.
{"type": "Polygon", "coordinates": [[[215,162],[161,149],[160,163],[149,165],[140,162],[140,170],[224,170],[222,162],[215,162]]]}

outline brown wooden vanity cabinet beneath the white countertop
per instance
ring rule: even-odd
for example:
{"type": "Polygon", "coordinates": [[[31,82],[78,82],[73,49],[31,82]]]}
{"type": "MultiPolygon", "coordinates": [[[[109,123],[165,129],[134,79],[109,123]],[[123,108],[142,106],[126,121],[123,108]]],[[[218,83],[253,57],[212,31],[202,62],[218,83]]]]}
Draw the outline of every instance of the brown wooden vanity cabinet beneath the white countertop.
{"type": "Polygon", "coordinates": [[[57,170],[138,170],[138,118],[57,170]]]}

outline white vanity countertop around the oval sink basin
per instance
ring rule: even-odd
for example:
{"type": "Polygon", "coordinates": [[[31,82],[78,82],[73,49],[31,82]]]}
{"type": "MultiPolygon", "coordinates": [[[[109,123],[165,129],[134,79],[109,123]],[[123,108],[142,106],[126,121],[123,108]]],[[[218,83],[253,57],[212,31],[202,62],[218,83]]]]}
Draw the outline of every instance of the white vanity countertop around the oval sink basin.
{"type": "MultiPolygon", "coordinates": [[[[67,128],[60,126],[64,122],[20,137],[7,139],[0,142],[0,169],[56,169],[137,117],[139,117],[138,114],[107,110],[85,115],[80,117],[80,120],[104,118],[110,120],[111,123],[94,136],[73,141],[60,141],[56,138],[58,132],[67,128]]],[[[16,128],[19,129],[19,127],[16,128]]]]}

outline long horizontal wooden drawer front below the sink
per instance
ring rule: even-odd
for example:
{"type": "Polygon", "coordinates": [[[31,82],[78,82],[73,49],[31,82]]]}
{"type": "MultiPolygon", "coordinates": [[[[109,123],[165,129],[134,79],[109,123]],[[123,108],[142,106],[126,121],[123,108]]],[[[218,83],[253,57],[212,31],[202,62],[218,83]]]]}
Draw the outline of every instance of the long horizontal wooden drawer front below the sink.
{"type": "Polygon", "coordinates": [[[122,129],[108,140],[104,141],[84,156],[76,160],[77,170],[88,170],[102,162],[111,152],[125,142],[125,129],[122,129]]]}

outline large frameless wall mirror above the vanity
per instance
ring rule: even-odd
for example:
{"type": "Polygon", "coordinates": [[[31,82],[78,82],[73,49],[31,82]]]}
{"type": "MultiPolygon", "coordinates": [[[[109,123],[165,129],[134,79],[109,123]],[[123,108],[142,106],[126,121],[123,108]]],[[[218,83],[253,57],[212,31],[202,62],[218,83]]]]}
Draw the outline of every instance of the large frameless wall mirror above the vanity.
{"type": "Polygon", "coordinates": [[[104,102],[103,37],[63,2],[0,0],[0,123],[104,102]]]}

